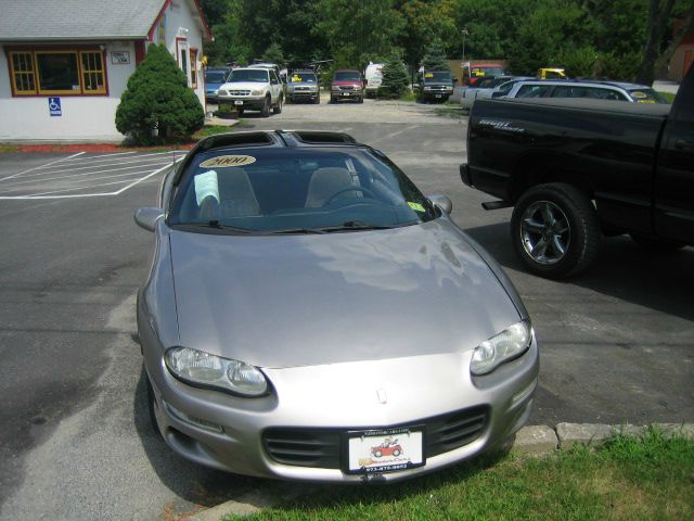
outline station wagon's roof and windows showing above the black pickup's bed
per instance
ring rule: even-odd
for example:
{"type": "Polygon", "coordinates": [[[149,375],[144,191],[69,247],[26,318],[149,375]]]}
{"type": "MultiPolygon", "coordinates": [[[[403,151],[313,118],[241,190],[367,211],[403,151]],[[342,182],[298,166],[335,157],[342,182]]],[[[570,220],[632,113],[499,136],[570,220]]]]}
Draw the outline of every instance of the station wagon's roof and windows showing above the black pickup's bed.
{"type": "Polygon", "coordinates": [[[632,103],[668,103],[651,87],[617,81],[518,81],[504,98],[591,98],[632,103]]]}

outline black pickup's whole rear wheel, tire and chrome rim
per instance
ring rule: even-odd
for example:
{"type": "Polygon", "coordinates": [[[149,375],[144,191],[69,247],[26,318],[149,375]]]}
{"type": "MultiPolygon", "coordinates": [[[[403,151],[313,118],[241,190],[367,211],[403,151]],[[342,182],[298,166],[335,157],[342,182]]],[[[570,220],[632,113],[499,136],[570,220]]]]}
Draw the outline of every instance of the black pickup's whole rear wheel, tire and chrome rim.
{"type": "Polygon", "coordinates": [[[599,256],[602,232],[588,195],[565,183],[526,191],[513,209],[511,239],[531,271],[561,279],[586,270],[599,256]]]}

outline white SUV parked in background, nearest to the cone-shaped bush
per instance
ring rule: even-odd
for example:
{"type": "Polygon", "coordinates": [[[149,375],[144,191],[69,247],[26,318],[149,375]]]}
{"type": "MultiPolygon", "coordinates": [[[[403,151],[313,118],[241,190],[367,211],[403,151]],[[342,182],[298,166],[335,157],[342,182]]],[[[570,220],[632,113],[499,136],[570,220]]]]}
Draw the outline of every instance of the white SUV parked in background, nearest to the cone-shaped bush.
{"type": "Polygon", "coordinates": [[[235,68],[219,88],[219,104],[232,105],[243,115],[245,111],[260,111],[262,117],[282,112],[284,89],[273,68],[243,67],[235,68]]]}

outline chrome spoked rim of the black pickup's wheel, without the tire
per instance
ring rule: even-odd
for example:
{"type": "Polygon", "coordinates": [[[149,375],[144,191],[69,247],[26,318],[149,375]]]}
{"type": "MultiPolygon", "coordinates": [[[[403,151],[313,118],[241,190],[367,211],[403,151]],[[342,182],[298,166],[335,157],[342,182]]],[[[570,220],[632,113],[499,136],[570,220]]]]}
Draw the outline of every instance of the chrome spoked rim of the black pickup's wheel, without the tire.
{"type": "Polygon", "coordinates": [[[520,240],[536,263],[556,264],[568,251],[571,229],[566,214],[551,201],[537,201],[520,219],[520,240]]]}

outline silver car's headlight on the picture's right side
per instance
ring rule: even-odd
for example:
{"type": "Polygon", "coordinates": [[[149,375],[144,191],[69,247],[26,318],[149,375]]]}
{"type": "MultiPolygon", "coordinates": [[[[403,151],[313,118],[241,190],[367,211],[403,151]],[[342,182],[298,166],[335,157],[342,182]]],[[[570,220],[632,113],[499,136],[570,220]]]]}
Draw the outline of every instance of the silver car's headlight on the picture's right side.
{"type": "Polygon", "coordinates": [[[473,353],[470,372],[479,377],[488,374],[504,361],[525,353],[532,341],[532,328],[528,320],[522,320],[486,340],[473,353]]]}

